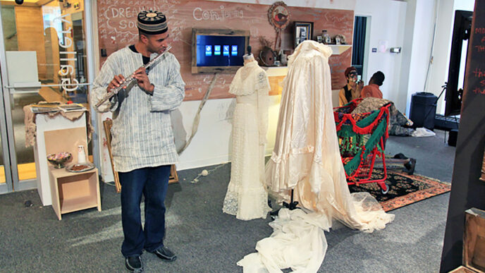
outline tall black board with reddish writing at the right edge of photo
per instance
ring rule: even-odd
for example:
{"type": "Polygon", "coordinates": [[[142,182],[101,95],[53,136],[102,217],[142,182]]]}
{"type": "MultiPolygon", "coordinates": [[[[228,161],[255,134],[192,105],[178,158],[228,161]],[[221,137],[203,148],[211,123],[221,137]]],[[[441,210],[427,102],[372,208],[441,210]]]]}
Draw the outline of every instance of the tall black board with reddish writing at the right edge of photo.
{"type": "Polygon", "coordinates": [[[485,182],[479,180],[485,147],[485,0],[476,0],[467,53],[460,131],[453,168],[441,272],[462,264],[465,210],[485,210],[485,182]]]}

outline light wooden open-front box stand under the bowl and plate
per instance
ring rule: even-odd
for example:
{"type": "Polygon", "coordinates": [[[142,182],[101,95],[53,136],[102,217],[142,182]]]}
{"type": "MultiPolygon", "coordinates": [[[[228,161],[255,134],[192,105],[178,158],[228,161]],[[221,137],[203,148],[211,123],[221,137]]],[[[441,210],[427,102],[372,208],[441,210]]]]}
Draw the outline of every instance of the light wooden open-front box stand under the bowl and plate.
{"type": "Polygon", "coordinates": [[[97,207],[101,211],[98,170],[70,172],[49,167],[52,208],[59,220],[61,214],[97,207]]]}

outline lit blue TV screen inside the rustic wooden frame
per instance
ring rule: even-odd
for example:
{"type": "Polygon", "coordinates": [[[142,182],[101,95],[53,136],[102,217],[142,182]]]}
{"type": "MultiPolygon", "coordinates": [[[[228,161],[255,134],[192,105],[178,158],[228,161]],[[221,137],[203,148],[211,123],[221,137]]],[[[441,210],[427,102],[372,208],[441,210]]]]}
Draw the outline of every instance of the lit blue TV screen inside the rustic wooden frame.
{"type": "Polygon", "coordinates": [[[197,66],[243,66],[245,36],[197,35],[197,66]]]}

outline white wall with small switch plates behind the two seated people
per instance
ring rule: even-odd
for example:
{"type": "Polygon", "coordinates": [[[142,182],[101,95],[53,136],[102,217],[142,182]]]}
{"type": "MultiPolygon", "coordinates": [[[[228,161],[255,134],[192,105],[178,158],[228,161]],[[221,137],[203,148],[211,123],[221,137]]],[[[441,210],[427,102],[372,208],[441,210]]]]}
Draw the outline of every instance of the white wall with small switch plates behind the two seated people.
{"type": "Polygon", "coordinates": [[[403,54],[393,54],[390,47],[403,47],[407,4],[402,1],[389,0],[357,0],[355,16],[368,16],[367,28],[370,28],[369,48],[367,58],[367,72],[362,75],[367,85],[372,74],[382,71],[386,75],[381,86],[385,99],[395,102],[398,109],[402,108],[399,100],[400,74],[403,54]],[[372,48],[379,48],[379,41],[387,41],[385,52],[372,52],[372,48]]]}

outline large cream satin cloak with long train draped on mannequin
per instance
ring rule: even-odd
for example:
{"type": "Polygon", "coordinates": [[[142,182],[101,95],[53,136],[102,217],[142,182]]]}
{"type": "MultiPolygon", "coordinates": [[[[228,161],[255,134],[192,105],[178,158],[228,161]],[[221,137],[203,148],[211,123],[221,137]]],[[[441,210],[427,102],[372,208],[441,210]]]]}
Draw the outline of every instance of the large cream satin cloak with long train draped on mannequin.
{"type": "Polygon", "coordinates": [[[271,192],[336,218],[352,229],[383,229],[393,219],[369,193],[350,195],[331,102],[329,56],[314,41],[300,44],[288,61],[283,96],[266,183],[271,192]]]}

